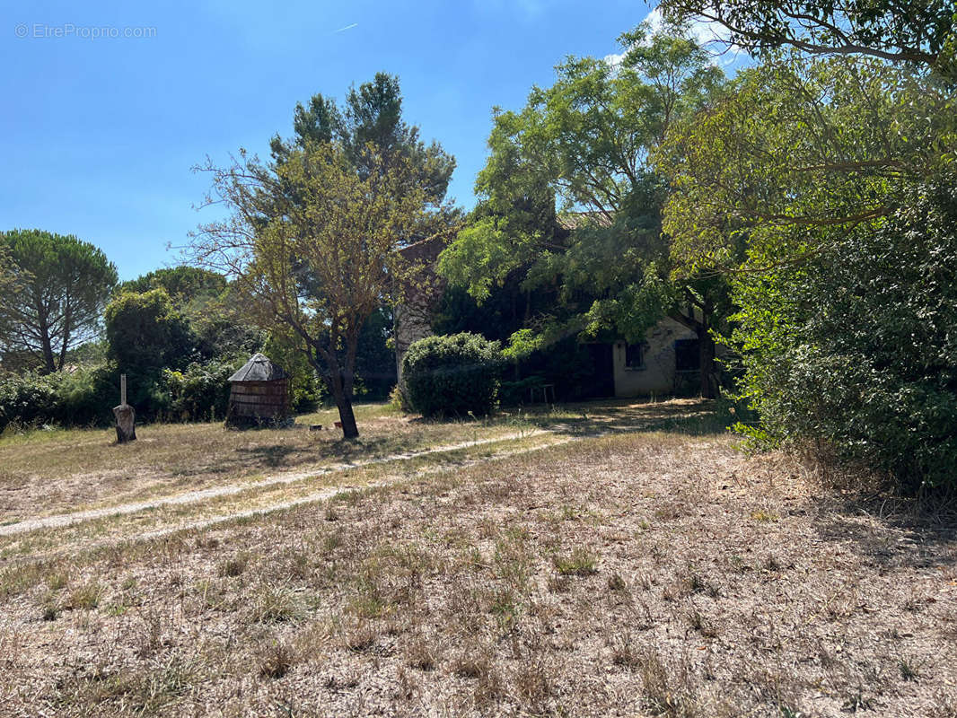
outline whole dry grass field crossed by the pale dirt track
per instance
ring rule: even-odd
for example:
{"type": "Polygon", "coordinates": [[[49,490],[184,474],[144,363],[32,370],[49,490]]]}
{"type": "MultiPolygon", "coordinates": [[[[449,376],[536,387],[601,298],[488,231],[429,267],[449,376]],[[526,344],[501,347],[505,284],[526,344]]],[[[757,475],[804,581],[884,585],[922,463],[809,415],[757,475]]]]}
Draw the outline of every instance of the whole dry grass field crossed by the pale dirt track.
{"type": "Polygon", "coordinates": [[[0,714],[957,716],[954,518],[709,411],[0,439],[0,714]]]}

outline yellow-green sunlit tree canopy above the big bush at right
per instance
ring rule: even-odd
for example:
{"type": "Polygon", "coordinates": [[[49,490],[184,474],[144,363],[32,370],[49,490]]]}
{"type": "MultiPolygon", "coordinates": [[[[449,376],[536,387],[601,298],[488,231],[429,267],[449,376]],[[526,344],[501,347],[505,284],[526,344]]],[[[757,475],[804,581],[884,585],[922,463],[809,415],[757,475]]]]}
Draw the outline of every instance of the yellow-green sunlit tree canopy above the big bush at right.
{"type": "Polygon", "coordinates": [[[664,213],[674,256],[736,270],[746,241],[798,261],[873,224],[952,162],[955,110],[943,80],[879,60],[779,56],[744,71],[657,153],[675,189],[664,213]]]}

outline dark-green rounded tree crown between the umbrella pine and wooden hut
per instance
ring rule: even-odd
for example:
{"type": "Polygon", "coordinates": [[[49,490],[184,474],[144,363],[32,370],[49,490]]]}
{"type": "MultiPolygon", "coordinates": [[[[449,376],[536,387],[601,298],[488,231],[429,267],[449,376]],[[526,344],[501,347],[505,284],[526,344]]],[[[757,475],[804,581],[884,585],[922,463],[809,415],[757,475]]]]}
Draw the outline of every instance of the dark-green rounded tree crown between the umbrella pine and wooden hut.
{"type": "Polygon", "coordinates": [[[196,357],[197,338],[165,289],[123,293],[106,307],[109,356],[134,374],[182,369],[196,357]]]}

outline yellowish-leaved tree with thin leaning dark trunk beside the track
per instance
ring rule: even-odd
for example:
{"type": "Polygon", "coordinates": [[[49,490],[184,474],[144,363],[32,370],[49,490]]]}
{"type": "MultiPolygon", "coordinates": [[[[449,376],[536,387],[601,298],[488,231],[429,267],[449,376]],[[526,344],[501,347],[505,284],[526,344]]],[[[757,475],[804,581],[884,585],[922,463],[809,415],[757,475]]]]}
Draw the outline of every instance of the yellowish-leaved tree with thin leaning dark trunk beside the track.
{"type": "Polygon", "coordinates": [[[359,435],[352,411],[356,350],[367,318],[410,267],[397,252],[423,219],[427,197],[405,158],[360,174],[338,143],[304,141],[281,162],[241,154],[210,167],[212,192],[232,210],[194,237],[194,261],[234,277],[263,326],[288,325],[339,408],[345,438],[359,435]]]}

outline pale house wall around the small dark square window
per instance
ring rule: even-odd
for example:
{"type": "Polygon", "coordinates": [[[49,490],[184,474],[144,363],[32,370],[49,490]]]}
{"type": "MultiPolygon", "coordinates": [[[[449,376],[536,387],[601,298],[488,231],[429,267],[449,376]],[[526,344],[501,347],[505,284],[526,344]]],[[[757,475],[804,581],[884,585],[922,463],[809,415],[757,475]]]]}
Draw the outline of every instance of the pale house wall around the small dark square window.
{"type": "Polygon", "coordinates": [[[644,369],[625,366],[624,341],[612,348],[615,396],[642,396],[666,394],[675,390],[675,342],[679,339],[697,339],[697,334],[673,319],[663,319],[645,336],[644,369]]]}

